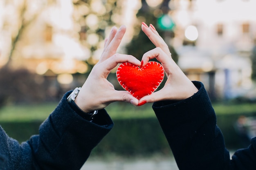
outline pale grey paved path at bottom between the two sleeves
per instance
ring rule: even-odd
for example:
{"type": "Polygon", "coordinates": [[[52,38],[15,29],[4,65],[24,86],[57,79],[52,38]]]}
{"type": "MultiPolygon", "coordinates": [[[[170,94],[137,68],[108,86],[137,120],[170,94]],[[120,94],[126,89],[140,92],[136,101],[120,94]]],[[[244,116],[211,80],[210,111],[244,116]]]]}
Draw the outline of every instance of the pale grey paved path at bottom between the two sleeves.
{"type": "Polygon", "coordinates": [[[138,159],[88,159],[81,170],[179,170],[173,157],[138,159]]]}

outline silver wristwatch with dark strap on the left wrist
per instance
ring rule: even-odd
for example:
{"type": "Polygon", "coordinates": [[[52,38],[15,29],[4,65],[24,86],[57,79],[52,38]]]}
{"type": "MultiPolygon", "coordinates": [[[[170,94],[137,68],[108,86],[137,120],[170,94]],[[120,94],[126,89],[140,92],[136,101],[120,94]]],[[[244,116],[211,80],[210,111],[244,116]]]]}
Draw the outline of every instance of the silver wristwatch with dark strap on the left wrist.
{"type": "Polygon", "coordinates": [[[78,95],[79,91],[80,91],[81,87],[76,87],[74,89],[74,91],[72,91],[72,93],[67,97],[67,102],[70,104],[71,108],[77,113],[79,114],[81,117],[83,117],[84,119],[88,120],[88,121],[92,121],[95,117],[95,115],[97,115],[98,110],[94,110],[91,111],[89,113],[85,113],[83,110],[81,110],[81,108],[79,108],[75,101],[76,96],[78,95]]]}

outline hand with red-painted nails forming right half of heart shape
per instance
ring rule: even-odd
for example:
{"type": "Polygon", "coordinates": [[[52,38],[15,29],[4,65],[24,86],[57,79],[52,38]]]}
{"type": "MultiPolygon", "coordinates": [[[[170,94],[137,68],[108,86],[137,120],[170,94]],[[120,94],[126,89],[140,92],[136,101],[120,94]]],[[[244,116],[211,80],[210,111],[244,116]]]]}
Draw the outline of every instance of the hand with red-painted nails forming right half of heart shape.
{"type": "Polygon", "coordinates": [[[156,46],[155,49],[146,52],[142,56],[141,61],[144,63],[143,66],[147,64],[150,59],[156,58],[164,67],[167,80],[161,90],[142,97],[139,100],[139,105],[141,105],[141,103],[152,103],[161,100],[182,100],[198,92],[198,89],[191,80],[186,77],[179,66],[173,61],[168,45],[155,30],[154,26],[150,24],[148,27],[143,22],[141,29],[156,46]]]}

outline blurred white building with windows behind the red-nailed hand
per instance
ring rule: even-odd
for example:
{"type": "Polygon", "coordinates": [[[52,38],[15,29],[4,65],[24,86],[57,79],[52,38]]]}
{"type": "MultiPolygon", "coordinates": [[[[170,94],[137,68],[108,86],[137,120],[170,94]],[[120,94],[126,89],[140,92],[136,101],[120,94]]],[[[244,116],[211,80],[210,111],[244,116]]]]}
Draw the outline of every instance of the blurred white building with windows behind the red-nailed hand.
{"type": "MultiPolygon", "coordinates": [[[[250,55],[256,38],[254,0],[171,0],[171,44],[179,66],[225,98],[254,88],[250,55]]],[[[250,91],[251,92],[251,91],[250,91]]]]}

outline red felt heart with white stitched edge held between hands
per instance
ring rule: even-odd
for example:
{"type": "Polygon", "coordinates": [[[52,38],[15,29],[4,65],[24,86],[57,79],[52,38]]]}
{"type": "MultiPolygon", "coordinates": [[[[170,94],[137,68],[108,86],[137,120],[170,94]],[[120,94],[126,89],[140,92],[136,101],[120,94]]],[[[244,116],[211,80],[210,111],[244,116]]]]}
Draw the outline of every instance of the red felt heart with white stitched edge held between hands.
{"type": "Polygon", "coordinates": [[[125,62],[117,68],[119,84],[137,99],[153,93],[163,79],[164,68],[158,62],[148,62],[142,68],[125,62]]]}

